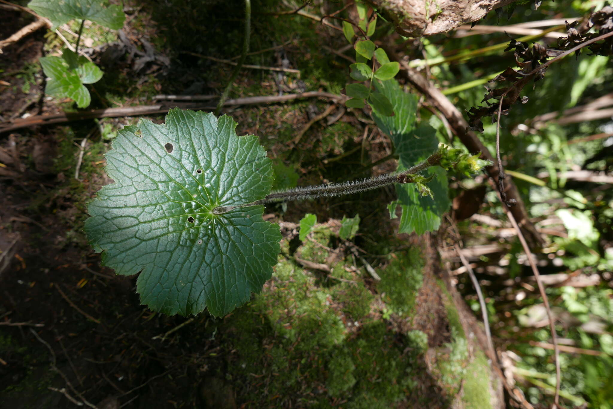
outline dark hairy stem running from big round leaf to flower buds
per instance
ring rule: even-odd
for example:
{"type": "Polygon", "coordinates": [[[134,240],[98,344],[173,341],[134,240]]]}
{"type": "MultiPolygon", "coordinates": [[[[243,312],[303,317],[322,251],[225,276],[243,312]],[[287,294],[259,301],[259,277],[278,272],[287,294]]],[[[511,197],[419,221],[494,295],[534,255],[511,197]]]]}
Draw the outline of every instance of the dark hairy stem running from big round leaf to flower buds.
{"type": "Polygon", "coordinates": [[[213,213],[224,214],[235,208],[256,206],[257,204],[351,195],[352,193],[366,192],[367,190],[379,189],[379,187],[389,186],[396,183],[413,183],[415,182],[413,176],[415,176],[416,173],[419,173],[431,166],[439,165],[440,162],[441,154],[437,152],[430,155],[430,157],[424,160],[424,162],[421,162],[418,165],[399,173],[384,174],[375,178],[343,182],[341,184],[330,183],[327,185],[296,187],[294,189],[270,193],[270,195],[267,195],[267,197],[263,198],[262,200],[257,200],[253,203],[238,204],[237,206],[220,206],[213,209],[213,213]]]}

